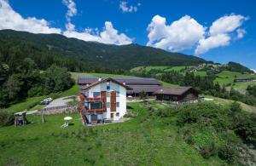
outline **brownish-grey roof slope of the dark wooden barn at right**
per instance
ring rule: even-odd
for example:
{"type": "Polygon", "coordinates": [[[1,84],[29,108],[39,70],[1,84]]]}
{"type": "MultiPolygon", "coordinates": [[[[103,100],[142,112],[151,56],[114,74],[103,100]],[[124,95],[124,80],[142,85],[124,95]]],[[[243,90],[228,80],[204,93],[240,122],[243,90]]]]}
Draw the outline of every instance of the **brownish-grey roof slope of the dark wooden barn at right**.
{"type": "Polygon", "coordinates": [[[192,87],[175,87],[175,88],[160,88],[155,91],[154,94],[173,94],[173,95],[181,95],[187,92],[192,87]]]}

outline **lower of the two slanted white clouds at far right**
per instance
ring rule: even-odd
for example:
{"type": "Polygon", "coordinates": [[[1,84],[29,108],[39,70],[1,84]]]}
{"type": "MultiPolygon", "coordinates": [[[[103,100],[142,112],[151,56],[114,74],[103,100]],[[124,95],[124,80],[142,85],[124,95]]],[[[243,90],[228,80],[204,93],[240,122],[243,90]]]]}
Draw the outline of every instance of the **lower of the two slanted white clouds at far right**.
{"type": "Polygon", "coordinates": [[[230,36],[227,34],[218,34],[216,36],[203,38],[195,49],[195,54],[206,53],[209,49],[223,47],[230,44],[230,36]]]}

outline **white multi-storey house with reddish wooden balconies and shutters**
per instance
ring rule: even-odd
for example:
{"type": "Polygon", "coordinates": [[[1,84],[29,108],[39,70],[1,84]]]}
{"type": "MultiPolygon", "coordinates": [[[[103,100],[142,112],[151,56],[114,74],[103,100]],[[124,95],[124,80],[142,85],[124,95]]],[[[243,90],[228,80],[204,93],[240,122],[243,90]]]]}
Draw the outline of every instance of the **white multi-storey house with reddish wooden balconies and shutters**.
{"type": "Polygon", "coordinates": [[[111,77],[80,86],[79,104],[84,123],[117,121],[126,112],[126,90],[130,87],[111,77]]]}

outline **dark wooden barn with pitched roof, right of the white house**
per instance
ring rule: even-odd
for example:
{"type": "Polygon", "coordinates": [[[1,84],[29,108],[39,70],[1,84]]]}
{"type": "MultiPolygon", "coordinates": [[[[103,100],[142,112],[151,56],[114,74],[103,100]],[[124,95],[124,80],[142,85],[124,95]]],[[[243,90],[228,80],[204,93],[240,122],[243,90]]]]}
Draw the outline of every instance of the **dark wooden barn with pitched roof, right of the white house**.
{"type": "Polygon", "coordinates": [[[161,88],[154,94],[156,100],[170,100],[178,103],[198,100],[198,93],[192,87],[161,88]]]}

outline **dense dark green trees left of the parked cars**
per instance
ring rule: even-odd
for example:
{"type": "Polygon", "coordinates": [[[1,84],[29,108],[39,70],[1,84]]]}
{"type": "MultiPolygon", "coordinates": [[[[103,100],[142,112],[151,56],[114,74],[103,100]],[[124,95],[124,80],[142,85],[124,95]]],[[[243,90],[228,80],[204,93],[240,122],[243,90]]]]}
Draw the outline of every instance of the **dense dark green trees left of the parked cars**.
{"type": "Polygon", "coordinates": [[[16,61],[13,68],[1,64],[0,107],[26,99],[26,97],[50,94],[69,89],[73,86],[67,68],[52,65],[40,72],[34,60],[25,58],[16,61]]]}

